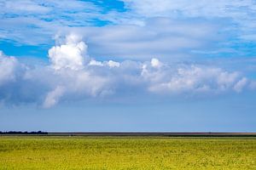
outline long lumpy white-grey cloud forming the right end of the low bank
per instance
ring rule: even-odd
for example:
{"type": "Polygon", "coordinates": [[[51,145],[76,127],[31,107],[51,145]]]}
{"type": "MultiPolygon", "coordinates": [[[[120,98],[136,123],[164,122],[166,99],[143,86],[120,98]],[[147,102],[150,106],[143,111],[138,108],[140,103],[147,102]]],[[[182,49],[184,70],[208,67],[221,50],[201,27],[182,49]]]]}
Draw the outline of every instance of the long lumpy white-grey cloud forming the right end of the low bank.
{"type": "Polygon", "coordinates": [[[179,65],[175,69],[157,70],[143,65],[142,76],[148,80],[148,90],[157,94],[219,94],[227,91],[241,92],[247,79],[237,72],[223,71],[203,65],[179,65]]]}

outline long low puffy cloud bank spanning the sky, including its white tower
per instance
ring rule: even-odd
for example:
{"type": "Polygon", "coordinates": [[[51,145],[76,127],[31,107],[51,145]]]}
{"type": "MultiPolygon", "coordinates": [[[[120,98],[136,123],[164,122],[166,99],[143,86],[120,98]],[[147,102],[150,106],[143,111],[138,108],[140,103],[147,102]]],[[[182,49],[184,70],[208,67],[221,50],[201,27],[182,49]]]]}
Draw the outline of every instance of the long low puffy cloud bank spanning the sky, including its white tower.
{"type": "Polygon", "coordinates": [[[238,71],[209,65],[174,65],[156,58],[96,60],[76,34],[49,49],[49,65],[27,65],[0,53],[0,100],[13,105],[36,103],[49,108],[78,99],[126,98],[134,91],[170,98],[241,93],[252,84],[238,71]]]}

